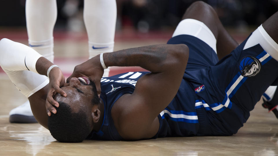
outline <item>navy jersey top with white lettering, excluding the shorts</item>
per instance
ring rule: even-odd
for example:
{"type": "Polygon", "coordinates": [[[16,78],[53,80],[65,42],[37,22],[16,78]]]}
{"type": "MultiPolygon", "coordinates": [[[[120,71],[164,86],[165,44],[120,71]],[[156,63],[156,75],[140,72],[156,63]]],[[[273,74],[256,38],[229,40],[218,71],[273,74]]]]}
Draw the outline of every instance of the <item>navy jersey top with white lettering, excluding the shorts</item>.
{"type": "MultiPolygon", "coordinates": [[[[132,94],[138,79],[147,73],[129,72],[101,79],[100,97],[105,105],[105,118],[101,130],[91,134],[90,139],[122,140],[111,118],[111,109],[123,94],[132,94]]],[[[186,77],[186,73],[184,75],[186,77]]],[[[194,94],[192,86],[183,79],[175,98],[158,115],[160,131],[154,138],[197,134],[198,117],[194,94]]]]}

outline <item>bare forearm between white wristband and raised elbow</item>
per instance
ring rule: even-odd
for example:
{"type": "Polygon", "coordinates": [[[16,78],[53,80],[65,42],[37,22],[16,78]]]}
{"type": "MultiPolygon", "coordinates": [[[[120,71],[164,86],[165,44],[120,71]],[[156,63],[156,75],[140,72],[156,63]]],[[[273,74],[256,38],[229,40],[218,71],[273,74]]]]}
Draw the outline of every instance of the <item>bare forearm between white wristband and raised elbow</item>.
{"type": "MultiPolygon", "coordinates": [[[[188,53],[184,44],[158,44],[104,53],[105,66],[140,66],[154,73],[186,63],[188,53]]],[[[185,64],[186,65],[186,64],[185,64]]]]}

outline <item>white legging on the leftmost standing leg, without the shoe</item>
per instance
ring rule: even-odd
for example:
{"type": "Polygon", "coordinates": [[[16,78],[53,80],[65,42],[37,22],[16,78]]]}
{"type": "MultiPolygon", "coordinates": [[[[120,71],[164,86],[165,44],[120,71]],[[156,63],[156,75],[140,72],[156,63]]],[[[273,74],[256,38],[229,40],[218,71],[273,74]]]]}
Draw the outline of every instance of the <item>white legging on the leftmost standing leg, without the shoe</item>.
{"type": "Polygon", "coordinates": [[[57,18],[56,0],[26,0],[29,46],[53,62],[53,29],[57,18]]]}

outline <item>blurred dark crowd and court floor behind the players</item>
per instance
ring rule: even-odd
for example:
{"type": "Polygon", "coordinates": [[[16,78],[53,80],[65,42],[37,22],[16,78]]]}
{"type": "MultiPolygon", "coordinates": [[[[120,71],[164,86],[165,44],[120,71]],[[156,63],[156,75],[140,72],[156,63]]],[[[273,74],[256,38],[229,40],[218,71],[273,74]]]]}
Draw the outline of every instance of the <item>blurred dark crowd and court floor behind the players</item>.
{"type": "MultiPolygon", "coordinates": [[[[114,51],[169,40],[186,8],[196,0],[116,0],[114,51]]],[[[278,0],[205,0],[224,27],[241,43],[250,32],[278,10],[278,0]]],[[[54,27],[54,63],[70,75],[88,59],[88,38],[83,21],[83,0],[57,0],[54,27]],[[70,62],[70,64],[69,64],[70,62]]],[[[1,0],[0,39],[28,45],[25,0],[1,0]]],[[[1,70],[1,69],[0,69],[1,70]]],[[[1,73],[1,71],[0,71],[1,73]]]]}

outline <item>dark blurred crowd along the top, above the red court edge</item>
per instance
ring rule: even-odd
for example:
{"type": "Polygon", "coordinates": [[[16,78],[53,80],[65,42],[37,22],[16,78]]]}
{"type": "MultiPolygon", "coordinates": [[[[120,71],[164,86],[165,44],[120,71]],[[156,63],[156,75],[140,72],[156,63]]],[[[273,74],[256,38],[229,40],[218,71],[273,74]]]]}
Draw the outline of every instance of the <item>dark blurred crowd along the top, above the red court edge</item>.
{"type": "MultiPolygon", "coordinates": [[[[147,33],[174,29],[195,0],[117,0],[117,30],[131,28],[147,33]]],[[[226,27],[244,31],[257,26],[278,10],[278,0],[205,0],[226,27]]],[[[85,31],[83,0],[57,0],[55,30],[85,31]]],[[[1,0],[0,26],[24,27],[25,0],[1,0]]]]}

